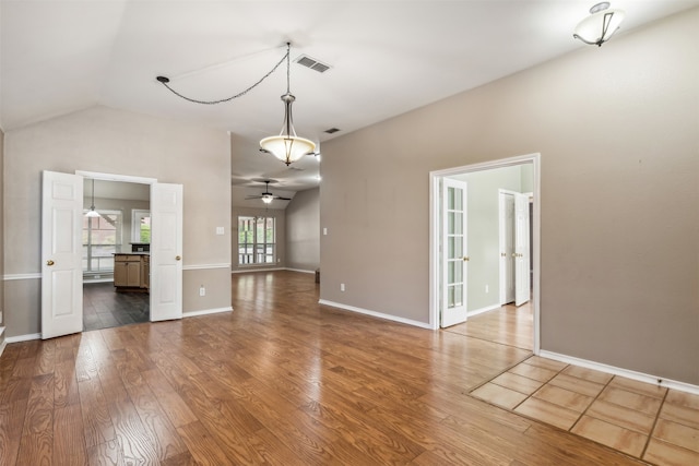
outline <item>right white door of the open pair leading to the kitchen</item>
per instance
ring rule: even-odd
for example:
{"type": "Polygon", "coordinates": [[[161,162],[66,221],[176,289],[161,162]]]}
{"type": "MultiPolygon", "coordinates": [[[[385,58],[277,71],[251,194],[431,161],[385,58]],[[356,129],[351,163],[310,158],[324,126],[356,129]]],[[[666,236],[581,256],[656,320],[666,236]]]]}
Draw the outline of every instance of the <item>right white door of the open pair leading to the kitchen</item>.
{"type": "Polygon", "coordinates": [[[182,186],[151,184],[151,321],[182,318],[182,186]]]}

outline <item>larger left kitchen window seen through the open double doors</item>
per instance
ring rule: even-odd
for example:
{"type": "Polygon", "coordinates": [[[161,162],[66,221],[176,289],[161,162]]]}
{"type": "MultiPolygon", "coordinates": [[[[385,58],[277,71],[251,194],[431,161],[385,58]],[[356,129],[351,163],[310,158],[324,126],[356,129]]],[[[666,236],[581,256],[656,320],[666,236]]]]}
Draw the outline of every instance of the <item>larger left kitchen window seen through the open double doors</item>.
{"type": "Polygon", "coordinates": [[[112,272],[112,254],[121,246],[121,211],[98,212],[98,217],[83,216],[83,272],[85,274],[112,272]]]}

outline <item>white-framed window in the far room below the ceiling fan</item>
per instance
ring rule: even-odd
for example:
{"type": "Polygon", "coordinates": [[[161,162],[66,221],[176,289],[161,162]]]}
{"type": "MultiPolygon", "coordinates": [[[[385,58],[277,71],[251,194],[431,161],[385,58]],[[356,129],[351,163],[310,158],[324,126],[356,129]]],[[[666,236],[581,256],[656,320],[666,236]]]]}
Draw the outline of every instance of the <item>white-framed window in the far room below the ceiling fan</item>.
{"type": "Polygon", "coordinates": [[[238,217],[238,264],[273,264],[274,238],[273,217],[238,217]]]}

